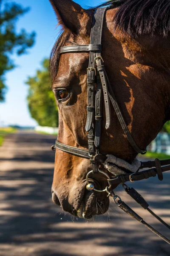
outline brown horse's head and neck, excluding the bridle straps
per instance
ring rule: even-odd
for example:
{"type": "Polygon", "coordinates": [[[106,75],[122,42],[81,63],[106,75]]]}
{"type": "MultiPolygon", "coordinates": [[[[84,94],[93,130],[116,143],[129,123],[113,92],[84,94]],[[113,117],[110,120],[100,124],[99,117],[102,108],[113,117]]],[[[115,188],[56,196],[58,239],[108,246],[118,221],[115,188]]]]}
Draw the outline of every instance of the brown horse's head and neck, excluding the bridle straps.
{"type": "MultiPolygon", "coordinates": [[[[85,125],[89,53],[59,55],[59,49],[90,43],[94,10],[82,9],[71,0],[50,2],[63,30],[53,48],[50,66],[52,88],[59,109],[58,141],[87,149],[88,134],[85,125]]],[[[164,15],[161,16],[156,11],[157,2],[160,2],[158,0],[144,1],[150,2],[147,8],[143,3],[139,6],[139,1],[136,0],[124,1],[122,5],[122,1],[118,2],[111,1],[105,15],[102,57],[129,131],[138,147],[146,148],[169,118],[170,42],[168,36],[166,38],[161,35],[168,35],[168,24],[163,20],[164,15]],[[130,9],[126,13],[128,7],[130,9]],[[132,7],[133,15],[130,13],[132,7]],[[156,27],[157,23],[153,23],[151,15],[154,21],[159,21],[159,27],[156,27]]],[[[164,6],[170,8],[170,4],[164,6]]],[[[111,127],[108,130],[105,129],[105,109],[102,111],[100,152],[131,163],[137,154],[128,142],[113,107],[111,106],[111,127]]],[[[105,170],[103,166],[99,168],[105,170]]],[[[88,159],[56,150],[52,185],[54,203],[73,215],[82,216],[84,212],[84,218],[106,212],[109,206],[107,193],[89,192],[85,189],[85,177],[89,171],[91,163],[88,159]]],[[[95,179],[96,186],[100,189],[107,186],[102,175],[94,175],[95,179]]]]}

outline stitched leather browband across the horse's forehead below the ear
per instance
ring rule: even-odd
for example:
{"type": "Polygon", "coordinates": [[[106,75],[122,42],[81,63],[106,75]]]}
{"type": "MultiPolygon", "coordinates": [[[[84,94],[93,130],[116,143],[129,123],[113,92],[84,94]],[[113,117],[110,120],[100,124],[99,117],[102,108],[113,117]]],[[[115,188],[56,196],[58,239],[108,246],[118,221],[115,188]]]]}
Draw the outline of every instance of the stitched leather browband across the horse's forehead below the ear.
{"type": "Polygon", "coordinates": [[[61,47],[60,53],[65,52],[101,52],[102,44],[69,45],[61,47]]]}

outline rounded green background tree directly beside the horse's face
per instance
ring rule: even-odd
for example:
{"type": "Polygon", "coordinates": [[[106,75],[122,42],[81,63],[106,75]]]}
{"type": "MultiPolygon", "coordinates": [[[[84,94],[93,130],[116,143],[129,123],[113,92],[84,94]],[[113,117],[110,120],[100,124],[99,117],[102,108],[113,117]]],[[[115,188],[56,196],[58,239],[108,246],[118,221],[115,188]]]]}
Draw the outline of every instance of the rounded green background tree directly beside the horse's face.
{"type": "Polygon", "coordinates": [[[29,77],[28,108],[31,116],[41,126],[58,126],[58,108],[54,93],[49,85],[49,60],[42,62],[42,70],[37,70],[34,77],[29,77]]]}

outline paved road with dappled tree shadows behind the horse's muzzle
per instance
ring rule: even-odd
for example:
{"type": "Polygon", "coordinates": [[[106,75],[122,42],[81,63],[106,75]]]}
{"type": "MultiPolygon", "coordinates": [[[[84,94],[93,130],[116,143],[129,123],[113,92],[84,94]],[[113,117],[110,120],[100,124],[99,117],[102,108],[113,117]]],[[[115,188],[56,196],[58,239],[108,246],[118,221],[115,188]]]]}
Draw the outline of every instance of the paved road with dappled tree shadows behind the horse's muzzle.
{"type": "MultiPolygon", "coordinates": [[[[121,212],[92,221],[63,214],[51,201],[54,143],[50,135],[20,131],[0,148],[0,256],[167,256],[170,246],[121,212]]],[[[133,183],[150,207],[170,223],[170,173],[133,183]]],[[[121,188],[117,193],[164,235],[170,232],[140,209],[121,188]]],[[[169,233],[169,234],[168,234],[169,233]]]]}

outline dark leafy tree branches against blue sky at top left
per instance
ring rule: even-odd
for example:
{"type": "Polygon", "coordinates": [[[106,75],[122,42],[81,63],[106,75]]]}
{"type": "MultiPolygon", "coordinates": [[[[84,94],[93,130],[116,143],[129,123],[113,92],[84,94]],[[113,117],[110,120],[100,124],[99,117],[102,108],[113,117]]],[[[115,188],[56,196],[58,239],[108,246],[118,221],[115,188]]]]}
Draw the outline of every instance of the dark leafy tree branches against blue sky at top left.
{"type": "Polygon", "coordinates": [[[4,101],[6,91],[5,74],[15,67],[11,55],[24,54],[34,44],[35,32],[28,34],[25,29],[16,32],[18,18],[28,11],[29,8],[23,8],[14,2],[0,0],[0,102],[4,101]]]}

